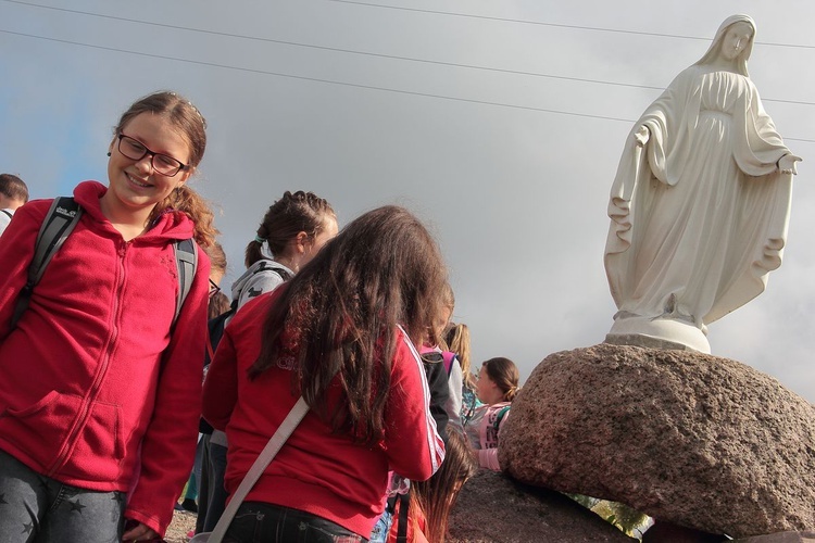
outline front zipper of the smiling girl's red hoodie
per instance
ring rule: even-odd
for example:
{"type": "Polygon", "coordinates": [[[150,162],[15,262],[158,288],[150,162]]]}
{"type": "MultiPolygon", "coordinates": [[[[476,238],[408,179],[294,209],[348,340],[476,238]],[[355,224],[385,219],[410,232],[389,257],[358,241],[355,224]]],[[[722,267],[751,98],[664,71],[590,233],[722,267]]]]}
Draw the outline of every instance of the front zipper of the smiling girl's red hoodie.
{"type": "MultiPolygon", "coordinates": [[[[60,469],[62,469],[67,463],[68,457],[71,456],[71,453],[73,452],[74,447],[76,446],[77,441],[79,440],[79,434],[85,429],[85,426],[88,424],[88,417],[90,416],[91,406],[96,403],[97,396],[99,395],[99,391],[101,390],[102,383],[104,382],[104,377],[108,375],[108,367],[110,366],[113,351],[116,349],[116,338],[118,337],[117,325],[120,321],[120,318],[118,318],[120,317],[118,315],[120,301],[122,299],[124,285],[125,285],[125,254],[127,253],[127,248],[129,247],[129,244],[130,244],[129,242],[122,241],[122,244],[117,249],[120,274],[118,274],[118,281],[116,285],[116,289],[113,293],[113,311],[111,312],[111,314],[113,315],[113,318],[112,318],[112,321],[110,323],[111,327],[110,327],[110,333],[108,337],[108,343],[103,352],[103,356],[99,365],[99,369],[97,369],[97,372],[93,376],[93,382],[90,387],[90,390],[88,391],[88,394],[85,396],[82,405],[79,406],[77,417],[74,419],[74,426],[71,429],[68,437],[63,442],[62,447],[60,449],[60,454],[51,464],[51,469],[48,470],[48,472],[46,473],[46,477],[53,477],[53,475],[57,473],[57,471],[59,471],[60,469]]],[[[116,437],[114,435],[114,440],[115,439],[116,437]]]]}

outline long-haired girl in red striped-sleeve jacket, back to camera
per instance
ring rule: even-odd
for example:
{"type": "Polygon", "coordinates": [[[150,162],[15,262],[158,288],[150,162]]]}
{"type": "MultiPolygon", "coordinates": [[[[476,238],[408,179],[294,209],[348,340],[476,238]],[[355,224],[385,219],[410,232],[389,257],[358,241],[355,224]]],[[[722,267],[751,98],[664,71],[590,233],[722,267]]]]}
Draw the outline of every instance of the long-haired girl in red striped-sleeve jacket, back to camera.
{"type": "Polygon", "coordinates": [[[366,541],[388,470],[425,480],[438,469],[444,445],[414,343],[432,329],[446,280],[422,223],[386,206],[237,313],[204,382],[204,418],[229,441],[226,489],[235,492],[300,395],[311,411],[225,541],[366,541]]]}

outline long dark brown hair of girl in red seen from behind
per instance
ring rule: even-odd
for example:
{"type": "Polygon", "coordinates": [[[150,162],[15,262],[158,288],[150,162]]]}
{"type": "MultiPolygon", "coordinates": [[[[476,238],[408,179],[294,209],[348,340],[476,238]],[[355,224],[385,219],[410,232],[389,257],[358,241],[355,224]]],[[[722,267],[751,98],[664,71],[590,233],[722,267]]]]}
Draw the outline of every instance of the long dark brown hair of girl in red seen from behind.
{"type": "Polygon", "coordinates": [[[439,248],[415,216],[392,205],[365,213],[284,287],[249,377],[286,356],[293,391],[335,432],[373,444],[384,430],[397,326],[419,344],[446,280],[439,248]],[[329,406],[335,377],[342,399],[329,406]]]}

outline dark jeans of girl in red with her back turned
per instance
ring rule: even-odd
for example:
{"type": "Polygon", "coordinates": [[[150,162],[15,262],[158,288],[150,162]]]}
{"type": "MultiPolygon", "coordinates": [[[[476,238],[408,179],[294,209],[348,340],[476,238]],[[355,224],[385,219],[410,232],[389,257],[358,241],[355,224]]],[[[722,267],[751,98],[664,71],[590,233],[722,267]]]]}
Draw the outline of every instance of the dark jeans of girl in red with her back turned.
{"type": "Polygon", "coordinates": [[[244,502],[224,543],[360,543],[367,539],[311,513],[259,502],[244,502]]]}

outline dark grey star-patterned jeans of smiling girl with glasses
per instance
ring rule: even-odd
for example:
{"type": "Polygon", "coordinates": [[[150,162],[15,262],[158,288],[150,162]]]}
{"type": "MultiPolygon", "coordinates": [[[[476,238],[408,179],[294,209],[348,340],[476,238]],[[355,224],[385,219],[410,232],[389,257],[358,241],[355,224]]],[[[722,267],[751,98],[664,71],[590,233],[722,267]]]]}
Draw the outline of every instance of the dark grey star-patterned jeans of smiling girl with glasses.
{"type": "Polygon", "coordinates": [[[124,492],[96,492],[45,477],[0,451],[0,542],[118,543],[124,492]]]}

